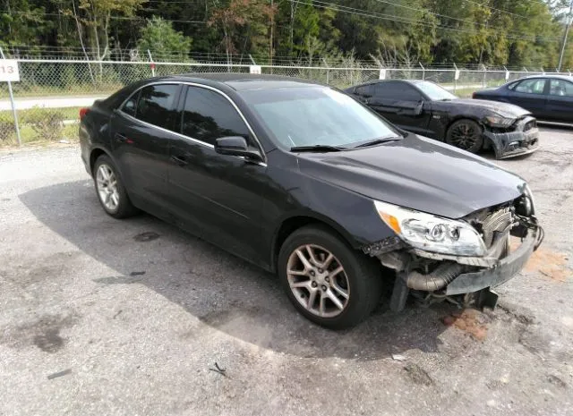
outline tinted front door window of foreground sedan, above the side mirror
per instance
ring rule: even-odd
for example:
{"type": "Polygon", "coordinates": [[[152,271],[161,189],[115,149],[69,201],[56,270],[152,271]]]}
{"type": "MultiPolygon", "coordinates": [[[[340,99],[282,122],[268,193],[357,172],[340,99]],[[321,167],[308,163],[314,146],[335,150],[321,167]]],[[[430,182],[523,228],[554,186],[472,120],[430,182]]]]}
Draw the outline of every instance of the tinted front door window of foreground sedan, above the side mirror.
{"type": "Polygon", "coordinates": [[[200,87],[187,89],[181,131],[212,145],[220,137],[249,137],[246,124],[227,98],[200,87]]]}

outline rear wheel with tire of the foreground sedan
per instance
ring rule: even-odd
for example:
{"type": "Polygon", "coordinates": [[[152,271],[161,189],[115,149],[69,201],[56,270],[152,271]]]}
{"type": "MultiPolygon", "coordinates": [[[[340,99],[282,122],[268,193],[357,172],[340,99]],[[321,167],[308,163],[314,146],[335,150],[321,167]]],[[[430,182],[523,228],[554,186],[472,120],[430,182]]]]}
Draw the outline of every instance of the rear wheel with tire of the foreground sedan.
{"type": "Polygon", "coordinates": [[[124,183],[114,162],[107,155],[101,155],[93,166],[93,183],[99,203],[107,215],[127,218],[139,212],[125,191],[124,183]]]}

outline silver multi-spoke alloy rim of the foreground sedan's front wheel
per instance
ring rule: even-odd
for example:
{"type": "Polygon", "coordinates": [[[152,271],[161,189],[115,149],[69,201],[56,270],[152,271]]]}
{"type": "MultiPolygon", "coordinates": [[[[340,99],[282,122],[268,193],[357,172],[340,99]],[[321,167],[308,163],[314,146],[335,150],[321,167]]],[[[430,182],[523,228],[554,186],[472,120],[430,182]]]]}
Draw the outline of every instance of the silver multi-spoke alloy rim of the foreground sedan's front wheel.
{"type": "Polygon", "coordinates": [[[315,244],[294,250],[286,263],[288,285],[304,309],[321,318],[334,318],[350,298],[348,277],[340,261],[315,244]]]}

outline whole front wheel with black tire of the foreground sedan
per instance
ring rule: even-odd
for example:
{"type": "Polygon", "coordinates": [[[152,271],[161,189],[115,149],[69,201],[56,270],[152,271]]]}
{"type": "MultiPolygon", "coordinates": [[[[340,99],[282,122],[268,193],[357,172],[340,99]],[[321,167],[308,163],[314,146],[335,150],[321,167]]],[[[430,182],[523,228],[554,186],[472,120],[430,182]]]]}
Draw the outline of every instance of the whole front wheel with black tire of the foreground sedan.
{"type": "Polygon", "coordinates": [[[320,225],[304,226],[286,239],[278,275],[295,308],[322,327],[354,327],[381,298],[380,264],[320,225]]]}

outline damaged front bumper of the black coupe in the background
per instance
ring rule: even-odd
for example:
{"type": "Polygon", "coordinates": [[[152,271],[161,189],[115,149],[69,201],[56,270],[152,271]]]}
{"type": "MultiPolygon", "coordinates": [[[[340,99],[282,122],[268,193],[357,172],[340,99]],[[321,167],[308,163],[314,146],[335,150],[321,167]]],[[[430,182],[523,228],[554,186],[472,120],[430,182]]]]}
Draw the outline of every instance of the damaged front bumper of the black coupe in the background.
{"type": "Polygon", "coordinates": [[[527,155],[539,149],[539,130],[534,117],[519,120],[511,132],[485,127],[483,136],[489,139],[497,159],[527,155]]]}

